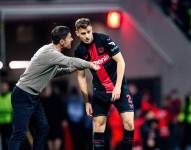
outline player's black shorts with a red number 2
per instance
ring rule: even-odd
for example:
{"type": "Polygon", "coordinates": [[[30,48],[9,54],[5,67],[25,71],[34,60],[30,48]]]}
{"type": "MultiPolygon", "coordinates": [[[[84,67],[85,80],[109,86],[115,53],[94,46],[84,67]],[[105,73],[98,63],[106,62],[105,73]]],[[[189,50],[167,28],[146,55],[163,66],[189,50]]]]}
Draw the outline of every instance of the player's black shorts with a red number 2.
{"type": "Polygon", "coordinates": [[[111,104],[117,108],[119,113],[134,112],[132,96],[127,89],[121,90],[120,99],[111,102],[111,93],[96,92],[92,100],[93,116],[107,116],[111,104]]]}

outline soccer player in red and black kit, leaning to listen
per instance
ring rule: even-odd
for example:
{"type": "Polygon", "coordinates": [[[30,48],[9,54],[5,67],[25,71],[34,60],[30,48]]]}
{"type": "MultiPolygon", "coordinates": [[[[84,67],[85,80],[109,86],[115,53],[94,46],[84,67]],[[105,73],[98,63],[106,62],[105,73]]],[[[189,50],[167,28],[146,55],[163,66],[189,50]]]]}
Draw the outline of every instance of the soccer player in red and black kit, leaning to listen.
{"type": "Polygon", "coordinates": [[[79,86],[86,103],[87,115],[93,116],[93,149],[104,149],[104,131],[111,104],[118,109],[124,125],[124,138],[120,150],[130,150],[134,135],[134,106],[124,77],[125,62],[119,47],[108,35],[93,33],[88,18],[75,22],[76,34],[81,40],[75,57],[100,65],[93,75],[93,100],[88,100],[84,70],[77,71],[79,86]]]}

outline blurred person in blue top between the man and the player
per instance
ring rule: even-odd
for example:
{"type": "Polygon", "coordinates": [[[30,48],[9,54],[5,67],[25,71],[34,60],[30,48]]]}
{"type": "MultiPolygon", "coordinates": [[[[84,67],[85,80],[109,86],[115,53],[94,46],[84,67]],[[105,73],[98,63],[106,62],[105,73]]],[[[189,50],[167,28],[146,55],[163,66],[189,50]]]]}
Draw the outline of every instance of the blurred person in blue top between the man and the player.
{"type": "Polygon", "coordinates": [[[74,150],[87,150],[85,132],[85,109],[83,98],[79,95],[76,87],[72,87],[69,90],[69,94],[66,99],[66,115],[72,136],[74,150]]]}

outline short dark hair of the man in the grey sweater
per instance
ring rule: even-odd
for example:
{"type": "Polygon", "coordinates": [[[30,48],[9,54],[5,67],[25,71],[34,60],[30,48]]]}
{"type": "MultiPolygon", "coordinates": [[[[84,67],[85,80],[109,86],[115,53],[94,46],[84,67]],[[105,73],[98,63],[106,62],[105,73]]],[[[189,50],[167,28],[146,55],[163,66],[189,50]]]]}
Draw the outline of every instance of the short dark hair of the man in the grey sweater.
{"type": "Polygon", "coordinates": [[[70,29],[66,26],[56,26],[52,29],[51,36],[52,42],[58,44],[61,39],[65,39],[70,29]]]}

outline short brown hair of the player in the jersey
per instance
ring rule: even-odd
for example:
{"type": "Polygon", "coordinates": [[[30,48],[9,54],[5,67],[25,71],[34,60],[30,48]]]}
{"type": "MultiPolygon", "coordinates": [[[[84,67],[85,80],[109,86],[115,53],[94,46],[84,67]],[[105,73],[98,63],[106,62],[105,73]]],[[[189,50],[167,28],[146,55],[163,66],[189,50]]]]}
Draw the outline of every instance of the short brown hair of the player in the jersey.
{"type": "Polygon", "coordinates": [[[79,18],[75,22],[76,30],[79,30],[80,28],[86,29],[88,26],[91,26],[89,18],[79,18]]]}

